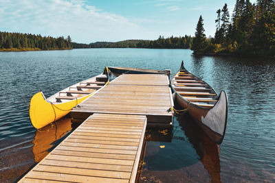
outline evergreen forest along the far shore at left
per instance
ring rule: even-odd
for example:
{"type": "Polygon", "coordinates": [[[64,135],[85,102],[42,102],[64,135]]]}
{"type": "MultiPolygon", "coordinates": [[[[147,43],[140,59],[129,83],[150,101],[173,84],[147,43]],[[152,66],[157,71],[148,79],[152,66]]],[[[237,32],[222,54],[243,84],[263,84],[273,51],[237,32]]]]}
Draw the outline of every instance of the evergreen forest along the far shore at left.
{"type": "Polygon", "coordinates": [[[70,36],[52,38],[34,34],[0,32],[0,50],[72,49],[70,36]]]}

